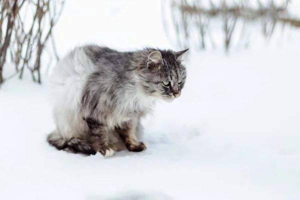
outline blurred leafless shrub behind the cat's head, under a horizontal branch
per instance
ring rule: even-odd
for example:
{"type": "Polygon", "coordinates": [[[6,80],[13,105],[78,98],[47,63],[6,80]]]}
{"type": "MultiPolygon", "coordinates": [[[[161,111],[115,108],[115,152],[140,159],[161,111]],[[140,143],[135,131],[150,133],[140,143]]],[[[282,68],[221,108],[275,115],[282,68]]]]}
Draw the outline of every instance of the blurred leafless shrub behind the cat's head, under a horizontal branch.
{"type": "Polygon", "coordinates": [[[288,14],[289,0],[283,4],[275,4],[273,0],[267,3],[257,1],[257,6],[252,6],[248,0],[239,0],[228,4],[226,0],[218,3],[209,0],[204,6],[200,0],[164,0],[162,3],[162,15],[165,21],[165,31],[169,38],[170,32],[176,32],[176,41],[180,48],[194,46],[196,49],[204,49],[209,41],[215,48],[215,42],[210,32],[211,21],[217,19],[222,25],[222,34],[225,51],[228,51],[233,32],[236,31],[237,20],[242,22],[240,40],[246,33],[246,26],[253,21],[259,21],[262,25],[262,34],[269,39],[273,34],[275,25],[281,23],[300,27],[300,20],[292,18],[288,14]],[[167,25],[167,14],[165,10],[170,7],[171,24],[167,25]],[[178,17],[180,16],[180,17],[178,17]]]}

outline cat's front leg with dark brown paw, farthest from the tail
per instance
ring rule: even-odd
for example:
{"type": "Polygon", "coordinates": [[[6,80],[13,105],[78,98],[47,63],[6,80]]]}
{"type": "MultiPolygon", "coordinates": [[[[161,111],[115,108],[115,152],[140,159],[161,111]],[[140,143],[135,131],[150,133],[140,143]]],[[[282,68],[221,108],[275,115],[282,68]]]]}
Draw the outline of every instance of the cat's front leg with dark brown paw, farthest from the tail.
{"type": "Polygon", "coordinates": [[[139,152],[145,150],[146,145],[141,141],[137,141],[135,136],[135,126],[136,124],[133,121],[129,121],[123,123],[121,127],[116,127],[115,131],[129,151],[139,152]]]}

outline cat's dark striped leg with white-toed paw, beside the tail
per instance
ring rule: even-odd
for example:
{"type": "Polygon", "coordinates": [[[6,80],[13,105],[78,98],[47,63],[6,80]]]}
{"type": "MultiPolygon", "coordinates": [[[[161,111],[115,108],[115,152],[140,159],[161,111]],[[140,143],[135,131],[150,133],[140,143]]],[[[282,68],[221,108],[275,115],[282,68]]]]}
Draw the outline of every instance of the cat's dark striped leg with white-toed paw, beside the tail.
{"type": "Polygon", "coordinates": [[[86,118],[85,121],[89,128],[87,138],[92,148],[105,157],[113,155],[114,150],[108,146],[108,127],[92,118],[86,118]]]}

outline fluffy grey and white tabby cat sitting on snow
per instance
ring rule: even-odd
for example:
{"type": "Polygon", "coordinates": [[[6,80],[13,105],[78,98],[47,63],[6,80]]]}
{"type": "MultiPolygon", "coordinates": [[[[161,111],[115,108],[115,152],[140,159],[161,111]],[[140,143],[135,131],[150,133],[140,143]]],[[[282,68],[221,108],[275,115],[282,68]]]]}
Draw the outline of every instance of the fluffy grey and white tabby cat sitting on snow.
{"type": "Polygon", "coordinates": [[[49,77],[56,129],[47,141],[86,155],[143,151],[140,120],[158,99],[180,96],[184,52],[143,48],[117,51],[96,44],[75,47],[49,77]]]}

